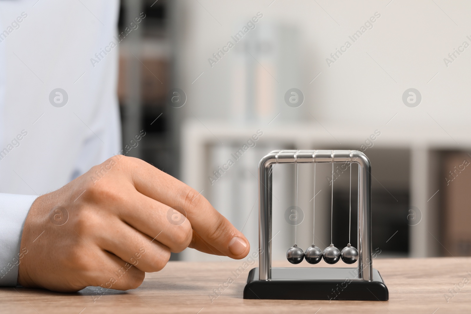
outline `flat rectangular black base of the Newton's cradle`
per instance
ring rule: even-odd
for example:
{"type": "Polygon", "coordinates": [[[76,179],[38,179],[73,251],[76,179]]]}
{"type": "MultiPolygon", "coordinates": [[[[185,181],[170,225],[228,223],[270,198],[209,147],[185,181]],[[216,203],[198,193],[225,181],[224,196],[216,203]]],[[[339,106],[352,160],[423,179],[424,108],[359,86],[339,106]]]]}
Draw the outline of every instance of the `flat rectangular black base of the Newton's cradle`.
{"type": "Polygon", "coordinates": [[[357,268],[272,268],[272,279],[259,280],[259,268],[249,272],[244,299],[386,301],[388,288],[373,269],[373,281],[358,279],[357,268]]]}

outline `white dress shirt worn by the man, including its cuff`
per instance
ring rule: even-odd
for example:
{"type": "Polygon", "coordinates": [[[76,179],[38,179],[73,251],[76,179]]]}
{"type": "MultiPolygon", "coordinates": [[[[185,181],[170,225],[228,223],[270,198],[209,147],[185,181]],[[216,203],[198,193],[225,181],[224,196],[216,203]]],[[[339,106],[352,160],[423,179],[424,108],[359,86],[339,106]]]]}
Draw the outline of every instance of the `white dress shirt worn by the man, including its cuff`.
{"type": "Polygon", "coordinates": [[[0,286],[16,285],[9,266],[37,195],[120,151],[119,46],[90,60],[118,12],[118,0],[0,0],[0,286]]]}

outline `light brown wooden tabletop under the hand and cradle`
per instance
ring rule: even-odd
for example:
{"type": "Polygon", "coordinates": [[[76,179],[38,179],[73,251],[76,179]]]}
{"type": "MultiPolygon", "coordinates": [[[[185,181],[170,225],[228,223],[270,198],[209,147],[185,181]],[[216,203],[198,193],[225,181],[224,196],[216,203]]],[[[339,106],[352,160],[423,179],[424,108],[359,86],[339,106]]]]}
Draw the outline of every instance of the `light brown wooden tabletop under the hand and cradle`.
{"type": "MultiPolygon", "coordinates": [[[[138,289],[107,290],[103,295],[94,287],[73,294],[1,288],[0,312],[281,314],[295,309],[292,314],[471,313],[471,258],[376,258],[374,268],[388,286],[389,301],[244,300],[244,284],[253,266],[214,298],[213,290],[229,276],[235,278],[231,272],[243,262],[170,262],[161,272],[146,274],[138,289]],[[466,284],[463,278],[470,282],[466,284]],[[451,294],[449,289],[456,292],[451,294]]],[[[284,266],[285,262],[273,264],[284,266]]]]}

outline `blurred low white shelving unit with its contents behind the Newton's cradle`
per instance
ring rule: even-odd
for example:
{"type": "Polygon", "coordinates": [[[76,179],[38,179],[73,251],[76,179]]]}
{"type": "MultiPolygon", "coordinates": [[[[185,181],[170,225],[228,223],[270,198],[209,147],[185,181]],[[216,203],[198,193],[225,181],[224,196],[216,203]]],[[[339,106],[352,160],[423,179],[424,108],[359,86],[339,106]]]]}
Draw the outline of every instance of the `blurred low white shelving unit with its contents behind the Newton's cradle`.
{"type": "MultiPolygon", "coordinates": [[[[329,125],[328,123],[323,123],[324,128],[317,122],[284,124],[282,127],[277,127],[276,123],[273,123],[273,125],[266,125],[265,123],[265,128],[260,127],[260,125],[261,124],[252,123],[241,126],[210,120],[187,121],[182,131],[181,168],[183,181],[193,186],[198,191],[204,191],[202,194],[211,202],[214,202],[214,204],[230,203],[237,199],[247,199],[248,201],[243,201],[245,204],[244,207],[239,207],[235,211],[231,212],[224,209],[226,210],[224,213],[228,215],[228,219],[239,229],[242,226],[240,219],[244,220],[247,218],[247,213],[251,210],[252,204],[257,198],[257,178],[254,176],[257,174],[258,161],[264,154],[268,153],[268,151],[271,149],[294,148],[358,149],[361,143],[358,143],[357,139],[371,132],[371,130],[361,125],[358,125],[356,129],[352,130],[339,129],[338,125],[329,125]],[[237,169],[237,164],[232,166],[228,172],[239,172],[239,175],[224,174],[221,177],[221,183],[219,183],[218,180],[211,186],[208,177],[212,175],[212,171],[217,169],[217,166],[220,165],[221,162],[224,162],[231,156],[231,149],[226,150],[226,152],[222,151],[222,157],[218,157],[218,153],[215,154],[214,152],[217,152],[219,149],[219,155],[221,155],[220,148],[223,146],[232,147],[233,151],[237,151],[257,129],[263,129],[264,132],[257,143],[257,147],[260,149],[256,153],[252,153],[250,157],[243,156],[240,159],[241,161],[236,162],[241,164],[249,163],[249,165],[241,166],[239,169],[237,169]],[[331,135],[326,132],[326,129],[335,130],[335,132],[331,135]],[[211,130],[211,132],[208,130],[211,130]],[[217,138],[215,135],[217,135],[217,138]],[[224,143],[224,145],[221,145],[221,142],[224,143]],[[246,160],[242,161],[244,159],[246,160]],[[252,175],[248,172],[249,170],[252,172],[252,175]],[[246,172],[245,181],[241,179],[241,177],[244,177],[244,174],[240,172],[246,172]],[[221,184],[231,186],[231,183],[223,183],[222,179],[224,179],[224,177],[227,177],[226,181],[228,181],[229,177],[232,177],[230,180],[242,180],[240,185],[250,186],[251,190],[237,191],[238,194],[235,195],[235,190],[229,188],[226,190],[227,193],[222,194],[225,199],[219,200],[218,189],[221,188],[221,184]],[[219,185],[219,187],[215,189],[214,186],[217,185],[219,185]],[[231,194],[232,196],[227,196],[231,194]]],[[[463,135],[461,138],[455,139],[460,143],[460,149],[463,149],[463,147],[471,148],[470,138],[463,135]]],[[[470,186],[471,180],[469,180],[469,175],[461,175],[462,184],[456,184],[457,187],[460,186],[458,189],[460,189],[461,192],[450,192],[451,190],[444,189],[443,185],[443,182],[445,182],[443,174],[449,174],[448,170],[454,170],[452,166],[454,166],[455,163],[458,165],[457,162],[460,161],[459,164],[461,165],[463,163],[462,159],[471,161],[471,156],[466,153],[461,153],[458,156],[453,155],[451,157],[447,155],[447,153],[444,153],[458,149],[456,146],[458,145],[450,144],[447,134],[440,132],[438,129],[426,134],[422,133],[420,138],[410,137],[408,132],[401,133],[401,131],[397,129],[395,132],[384,132],[374,143],[374,147],[368,148],[365,151],[365,154],[372,161],[372,210],[375,224],[373,229],[373,245],[382,250],[383,254],[381,257],[430,257],[450,254],[469,254],[469,249],[466,249],[470,246],[470,240],[468,240],[470,237],[467,236],[469,232],[463,231],[459,233],[457,230],[453,231],[453,226],[456,220],[460,220],[460,217],[464,217],[462,215],[460,216],[459,212],[468,210],[469,206],[466,207],[466,200],[463,199],[463,197],[466,198],[467,194],[464,193],[463,189],[470,186]],[[441,162],[441,158],[444,158],[442,157],[444,155],[448,156],[446,159],[447,162],[441,162]],[[450,159],[452,159],[452,161],[450,161],[450,159]],[[461,195],[461,199],[458,199],[457,195],[461,195]],[[450,197],[454,201],[443,206],[443,199],[450,197]],[[447,225],[444,225],[442,221],[444,215],[447,216],[445,219],[447,225]],[[447,247],[454,248],[454,253],[443,250],[441,244],[443,239],[447,241],[447,247]],[[456,242],[459,243],[456,244],[456,242]]],[[[288,172],[282,174],[279,180],[276,179],[274,174],[274,191],[276,191],[276,185],[278,185],[278,193],[280,186],[282,186],[282,189],[292,192],[292,170],[293,169],[289,169],[288,172]]],[[[355,170],[353,173],[355,173],[355,170]]],[[[330,176],[330,172],[325,171],[324,175],[319,176],[317,177],[317,182],[320,182],[320,187],[317,189],[327,189],[330,193],[328,180],[326,180],[326,178],[330,176]],[[320,179],[319,176],[321,177],[320,179]]],[[[345,177],[348,176],[347,174],[345,177]]],[[[334,208],[335,203],[341,203],[342,199],[344,200],[343,205],[340,204],[338,207],[343,206],[343,208],[348,208],[348,203],[345,201],[345,193],[348,193],[348,183],[345,181],[342,182],[339,183],[339,185],[334,185],[340,190],[340,192],[334,195],[334,208]]],[[[352,179],[352,186],[355,186],[355,182],[355,179],[352,179]]],[[[232,183],[232,186],[234,186],[234,183],[232,183]]],[[[307,193],[308,196],[310,195],[309,198],[311,198],[312,177],[303,177],[300,175],[300,186],[304,186],[305,188],[304,191],[299,192],[299,195],[307,193]]],[[[292,197],[292,193],[278,196],[278,198],[287,199],[288,204],[289,202],[293,202],[292,197]]],[[[309,210],[312,208],[312,203],[306,201],[305,198],[306,197],[304,197],[303,200],[299,200],[299,206],[301,209],[307,209],[304,210],[305,219],[309,221],[309,219],[312,219],[312,216],[309,217],[309,210]]],[[[309,198],[307,198],[307,200],[309,200],[309,198]]],[[[276,204],[277,202],[274,200],[274,211],[276,210],[276,204]]],[[[352,208],[355,208],[355,204],[356,203],[353,202],[352,208]]],[[[322,242],[330,241],[329,215],[321,214],[320,212],[322,210],[325,211],[327,207],[330,209],[330,194],[328,198],[321,197],[316,206],[316,219],[319,220],[319,225],[316,223],[317,236],[322,242]]],[[[282,215],[283,212],[280,212],[280,214],[282,215]]],[[[340,215],[343,220],[348,218],[348,216],[343,216],[345,215],[340,215]]],[[[352,217],[354,217],[354,215],[352,215],[352,217]]],[[[249,220],[252,223],[252,230],[244,229],[244,233],[248,236],[252,246],[256,247],[258,245],[258,201],[252,209],[249,220]]],[[[464,221],[464,225],[460,225],[463,230],[466,229],[464,221]]],[[[341,222],[335,224],[338,225],[341,224],[341,222]]],[[[343,226],[344,228],[348,227],[348,225],[343,226]]],[[[334,225],[334,228],[335,227],[334,225]]],[[[282,231],[284,235],[281,235],[279,238],[280,241],[277,242],[274,240],[273,244],[276,246],[274,252],[276,252],[277,257],[283,258],[283,250],[286,250],[289,245],[292,245],[290,244],[292,241],[292,230],[290,226],[284,222],[279,225],[274,223],[273,228],[274,234],[276,233],[275,228],[284,230],[282,231]]],[[[309,239],[309,242],[312,239],[312,233],[309,232],[312,226],[309,227],[308,224],[304,228],[306,229],[304,231],[301,230],[302,228],[298,229],[298,239],[304,237],[309,239]]],[[[341,228],[339,227],[338,229],[341,228]]],[[[334,240],[335,238],[336,236],[334,236],[334,240]]],[[[274,255],[276,254],[274,253],[274,255]]],[[[183,258],[186,260],[217,259],[189,249],[183,252],[183,258]]]]}

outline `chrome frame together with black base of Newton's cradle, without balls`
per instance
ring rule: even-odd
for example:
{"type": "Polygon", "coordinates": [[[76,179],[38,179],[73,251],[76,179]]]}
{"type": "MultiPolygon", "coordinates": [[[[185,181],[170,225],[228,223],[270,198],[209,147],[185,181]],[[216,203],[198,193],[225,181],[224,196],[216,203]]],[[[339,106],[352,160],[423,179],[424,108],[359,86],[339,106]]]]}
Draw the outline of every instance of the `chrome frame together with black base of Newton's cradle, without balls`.
{"type": "Polygon", "coordinates": [[[388,288],[372,266],[371,164],[364,153],[347,150],[272,151],[259,163],[260,267],[244,288],[246,299],[388,300],[388,288]],[[358,267],[272,267],[272,167],[278,163],[358,164],[358,267]]]}

